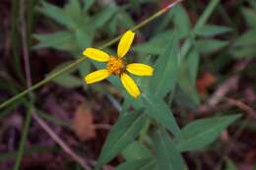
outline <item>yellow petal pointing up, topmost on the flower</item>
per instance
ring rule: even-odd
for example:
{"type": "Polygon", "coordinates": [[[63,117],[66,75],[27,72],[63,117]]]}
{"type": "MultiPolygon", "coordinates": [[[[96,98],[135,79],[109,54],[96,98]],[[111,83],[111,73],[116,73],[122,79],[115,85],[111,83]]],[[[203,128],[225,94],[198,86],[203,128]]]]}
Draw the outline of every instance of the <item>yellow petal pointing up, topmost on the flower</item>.
{"type": "Polygon", "coordinates": [[[118,57],[121,58],[125,56],[125,54],[129,51],[132,45],[134,36],[135,36],[135,33],[132,30],[128,30],[123,34],[117,48],[118,57]]]}

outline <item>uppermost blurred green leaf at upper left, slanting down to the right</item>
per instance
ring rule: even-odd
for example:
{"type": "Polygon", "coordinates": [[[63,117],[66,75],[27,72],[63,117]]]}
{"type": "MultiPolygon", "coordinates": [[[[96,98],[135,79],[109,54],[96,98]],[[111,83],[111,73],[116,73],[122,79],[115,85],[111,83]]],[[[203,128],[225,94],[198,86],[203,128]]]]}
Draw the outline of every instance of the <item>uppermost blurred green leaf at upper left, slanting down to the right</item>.
{"type": "Polygon", "coordinates": [[[53,19],[56,23],[63,25],[67,28],[76,28],[76,23],[71,16],[65,13],[65,11],[57,6],[51,5],[45,1],[42,1],[42,7],[39,11],[45,16],[53,19]]]}

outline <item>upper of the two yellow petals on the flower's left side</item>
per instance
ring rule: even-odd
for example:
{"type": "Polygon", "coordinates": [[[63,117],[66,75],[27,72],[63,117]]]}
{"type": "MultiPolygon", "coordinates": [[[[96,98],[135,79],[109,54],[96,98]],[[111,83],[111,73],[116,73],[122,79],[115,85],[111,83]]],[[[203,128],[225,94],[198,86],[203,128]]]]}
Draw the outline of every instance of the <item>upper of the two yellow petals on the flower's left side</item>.
{"type": "Polygon", "coordinates": [[[99,61],[99,62],[107,62],[110,58],[110,56],[105,53],[104,51],[101,51],[96,48],[87,48],[83,54],[93,60],[99,61]]]}

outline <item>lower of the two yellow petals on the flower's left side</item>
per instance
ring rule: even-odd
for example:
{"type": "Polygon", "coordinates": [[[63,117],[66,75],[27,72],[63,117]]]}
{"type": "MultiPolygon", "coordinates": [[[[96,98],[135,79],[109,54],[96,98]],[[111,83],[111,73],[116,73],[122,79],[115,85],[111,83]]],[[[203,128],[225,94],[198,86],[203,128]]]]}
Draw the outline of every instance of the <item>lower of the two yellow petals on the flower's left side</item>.
{"type": "Polygon", "coordinates": [[[102,81],[110,76],[108,70],[102,69],[96,72],[93,72],[85,77],[85,81],[87,84],[94,84],[96,82],[102,81]]]}

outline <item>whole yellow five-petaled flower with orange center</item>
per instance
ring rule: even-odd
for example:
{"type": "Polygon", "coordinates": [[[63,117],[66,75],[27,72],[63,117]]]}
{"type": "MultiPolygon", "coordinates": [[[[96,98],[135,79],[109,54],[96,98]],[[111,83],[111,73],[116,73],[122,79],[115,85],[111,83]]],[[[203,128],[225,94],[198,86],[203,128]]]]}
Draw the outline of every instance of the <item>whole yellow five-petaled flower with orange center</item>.
{"type": "Polygon", "coordinates": [[[107,53],[98,50],[96,48],[87,48],[83,54],[93,60],[98,62],[105,62],[106,68],[93,72],[85,77],[87,84],[94,84],[96,82],[102,81],[109,77],[110,75],[118,76],[121,79],[122,85],[126,90],[135,98],[137,98],[141,91],[139,87],[135,84],[133,79],[127,75],[126,71],[136,76],[152,76],[154,69],[151,66],[132,63],[125,65],[123,57],[129,51],[135,33],[131,30],[126,31],[120,39],[117,48],[117,57],[108,55],[107,53]]]}

